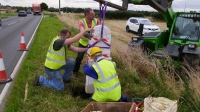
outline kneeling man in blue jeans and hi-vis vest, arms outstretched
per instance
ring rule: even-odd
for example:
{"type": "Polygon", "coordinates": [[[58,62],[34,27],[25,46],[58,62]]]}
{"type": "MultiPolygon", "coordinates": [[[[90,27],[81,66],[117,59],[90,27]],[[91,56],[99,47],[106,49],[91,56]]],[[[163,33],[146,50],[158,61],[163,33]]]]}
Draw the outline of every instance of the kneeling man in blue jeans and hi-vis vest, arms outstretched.
{"type": "Polygon", "coordinates": [[[36,75],[35,86],[43,85],[56,90],[64,90],[64,82],[71,82],[70,75],[75,65],[73,58],[67,58],[67,51],[68,49],[74,52],[87,51],[88,48],[78,48],[71,44],[77,42],[88,31],[93,32],[93,29],[82,30],[73,38],[70,38],[71,33],[68,29],[60,31],[60,34],[52,40],[46,55],[45,72],[50,79],[45,76],[36,75]],[[63,75],[61,74],[61,70],[64,70],[63,75]]]}

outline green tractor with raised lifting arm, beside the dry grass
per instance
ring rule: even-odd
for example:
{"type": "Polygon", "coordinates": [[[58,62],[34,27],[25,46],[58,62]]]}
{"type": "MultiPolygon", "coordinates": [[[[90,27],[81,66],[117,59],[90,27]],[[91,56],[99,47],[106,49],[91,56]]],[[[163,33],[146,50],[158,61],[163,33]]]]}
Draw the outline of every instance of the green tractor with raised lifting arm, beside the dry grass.
{"type": "Polygon", "coordinates": [[[165,59],[170,56],[175,62],[189,65],[197,69],[200,64],[200,13],[174,12],[171,5],[173,0],[123,0],[122,6],[107,3],[108,6],[127,10],[128,4],[149,5],[161,12],[168,29],[160,32],[149,32],[142,35],[143,25],[140,24],[138,37],[133,37],[128,44],[131,47],[142,47],[154,57],[165,59]],[[150,52],[151,51],[151,52],[150,52]]]}

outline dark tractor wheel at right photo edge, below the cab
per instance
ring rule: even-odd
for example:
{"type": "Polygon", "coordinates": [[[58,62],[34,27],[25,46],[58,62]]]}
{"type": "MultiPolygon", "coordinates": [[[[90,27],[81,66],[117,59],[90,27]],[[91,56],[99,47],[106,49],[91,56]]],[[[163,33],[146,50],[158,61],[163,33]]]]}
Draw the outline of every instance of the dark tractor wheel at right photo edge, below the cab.
{"type": "Polygon", "coordinates": [[[183,60],[183,66],[187,70],[197,70],[199,68],[199,55],[198,54],[185,54],[183,60]]]}

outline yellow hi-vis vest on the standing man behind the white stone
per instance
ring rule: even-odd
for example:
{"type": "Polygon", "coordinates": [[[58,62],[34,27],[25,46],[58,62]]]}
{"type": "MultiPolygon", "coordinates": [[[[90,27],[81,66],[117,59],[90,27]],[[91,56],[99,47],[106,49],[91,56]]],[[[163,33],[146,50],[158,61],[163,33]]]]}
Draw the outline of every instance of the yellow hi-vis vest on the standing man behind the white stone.
{"type": "MultiPolygon", "coordinates": [[[[85,18],[82,19],[81,22],[82,22],[83,25],[84,25],[84,29],[87,29],[87,28],[88,28],[88,25],[87,25],[86,19],[85,19],[85,18]]],[[[92,26],[91,26],[91,27],[93,28],[93,27],[95,27],[96,25],[97,25],[97,19],[94,18],[94,19],[92,20],[92,26]]],[[[85,36],[82,36],[81,39],[79,40],[79,43],[81,43],[83,46],[86,47],[86,46],[88,45],[88,38],[85,37],[85,36]]]]}

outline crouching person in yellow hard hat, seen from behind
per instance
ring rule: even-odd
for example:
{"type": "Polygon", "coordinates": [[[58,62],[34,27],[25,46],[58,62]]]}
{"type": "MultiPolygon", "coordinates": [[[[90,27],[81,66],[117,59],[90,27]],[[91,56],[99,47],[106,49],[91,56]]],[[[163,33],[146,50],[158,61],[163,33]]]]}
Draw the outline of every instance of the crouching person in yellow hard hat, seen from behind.
{"type": "Polygon", "coordinates": [[[92,100],[97,102],[125,101],[126,97],[121,96],[121,85],[115,70],[115,63],[104,59],[102,50],[93,47],[90,56],[95,61],[92,66],[85,64],[84,73],[94,78],[94,94],[92,100]]]}

